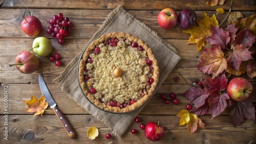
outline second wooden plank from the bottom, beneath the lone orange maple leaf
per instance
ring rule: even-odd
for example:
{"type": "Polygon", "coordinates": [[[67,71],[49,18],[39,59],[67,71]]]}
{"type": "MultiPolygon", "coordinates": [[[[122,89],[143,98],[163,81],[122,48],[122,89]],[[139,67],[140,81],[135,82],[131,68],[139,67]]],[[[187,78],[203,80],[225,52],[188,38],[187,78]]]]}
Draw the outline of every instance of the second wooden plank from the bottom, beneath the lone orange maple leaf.
{"type": "MultiPolygon", "coordinates": [[[[256,83],[254,83],[256,84],[256,83]]],[[[4,87],[8,86],[8,111],[10,114],[34,114],[26,112],[27,106],[22,100],[30,100],[31,95],[34,95],[37,99],[41,96],[41,91],[38,84],[4,84],[0,88],[0,93],[4,93],[4,87]]],[[[61,111],[65,114],[84,114],[88,112],[81,108],[75,101],[71,100],[69,96],[64,93],[60,87],[56,84],[47,84],[55,102],[61,111]]],[[[148,115],[176,115],[182,109],[185,109],[186,104],[189,103],[181,94],[189,88],[188,85],[183,84],[164,84],[156,91],[152,99],[146,104],[140,114],[148,115]],[[165,93],[169,95],[170,92],[175,92],[180,103],[174,105],[170,103],[169,105],[164,104],[164,101],[160,99],[159,95],[165,93]]],[[[251,96],[248,98],[249,102],[254,102],[256,106],[256,89],[253,90],[251,96]]],[[[170,100],[170,98],[168,97],[170,100]]],[[[4,99],[0,99],[0,107],[4,107],[4,99]]],[[[51,110],[48,108],[48,110],[51,110]]],[[[0,109],[4,112],[4,109],[0,109]]],[[[51,112],[45,112],[46,114],[53,114],[51,112]]],[[[228,114],[228,111],[224,111],[222,114],[228,114]]]]}

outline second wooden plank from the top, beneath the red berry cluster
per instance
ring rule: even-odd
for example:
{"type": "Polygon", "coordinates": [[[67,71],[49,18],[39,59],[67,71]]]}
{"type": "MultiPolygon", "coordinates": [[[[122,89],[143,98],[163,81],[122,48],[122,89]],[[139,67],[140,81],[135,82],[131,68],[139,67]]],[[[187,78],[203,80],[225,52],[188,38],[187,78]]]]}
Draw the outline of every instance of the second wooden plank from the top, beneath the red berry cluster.
{"type": "MultiPolygon", "coordinates": [[[[49,20],[53,15],[58,14],[60,10],[45,9],[0,9],[0,37],[24,37],[28,38],[22,29],[20,24],[22,23],[22,15],[34,15],[40,19],[42,22],[43,29],[38,36],[45,36],[52,38],[47,34],[47,29],[49,26],[49,20]],[[8,17],[6,17],[8,15],[8,17]]],[[[105,20],[107,15],[111,10],[61,10],[64,16],[70,18],[73,22],[72,31],[67,38],[76,39],[90,39],[93,34],[102,26],[102,22],[105,20]]],[[[135,18],[144,22],[148,27],[157,32],[162,38],[165,39],[187,39],[189,34],[181,32],[181,28],[176,25],[175,28],[170,30],[162,29],[157,22],[157,15],[159,10],[147,10],[147,11],[127,11],[134,15],[135,18]]],[[[179,11],[177,11],[179,13],[179,11]]],[[[204,11],[196,11],[198,17],[203,18],[204,11]]],[[[216,14],[215,11],[206,11],[208,16],[216,14]]],[[[241,11],[244,17],[248,17],[255,12],[244,12],[241,11]]],[[[225,14],[216,15],[219,23],[224,19],[225,14]]],[[[227,21],[227,19],[226,19],[227,21]]],[[[221,27],[226,28],[226,22],[223,23],[221,27]]]]}

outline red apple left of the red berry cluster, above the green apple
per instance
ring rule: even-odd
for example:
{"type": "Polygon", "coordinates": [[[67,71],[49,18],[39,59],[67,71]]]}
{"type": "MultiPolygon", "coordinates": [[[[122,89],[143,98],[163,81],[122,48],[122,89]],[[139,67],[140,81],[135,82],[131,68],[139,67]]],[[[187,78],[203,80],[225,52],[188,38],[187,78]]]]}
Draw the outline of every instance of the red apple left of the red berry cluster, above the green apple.
{"type": "Polygon", "coordinates": [[[36,36],[42,29],[41,21],[35,16],[24,17],[22,21],[22,31],[29,36],[36,36]]]}

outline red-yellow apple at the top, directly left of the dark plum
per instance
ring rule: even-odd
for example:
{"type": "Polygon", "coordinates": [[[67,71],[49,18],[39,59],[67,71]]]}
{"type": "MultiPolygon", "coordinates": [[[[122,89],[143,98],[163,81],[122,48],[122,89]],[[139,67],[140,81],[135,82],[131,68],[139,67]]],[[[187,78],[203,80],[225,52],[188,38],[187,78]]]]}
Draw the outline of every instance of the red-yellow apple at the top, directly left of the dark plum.
{"type": "Polygon", "coordinates": [[[163,29],[172,29],[178,20],[177,12],[171,8],[165,8],[157,16],[158,24],[163,29]]]}

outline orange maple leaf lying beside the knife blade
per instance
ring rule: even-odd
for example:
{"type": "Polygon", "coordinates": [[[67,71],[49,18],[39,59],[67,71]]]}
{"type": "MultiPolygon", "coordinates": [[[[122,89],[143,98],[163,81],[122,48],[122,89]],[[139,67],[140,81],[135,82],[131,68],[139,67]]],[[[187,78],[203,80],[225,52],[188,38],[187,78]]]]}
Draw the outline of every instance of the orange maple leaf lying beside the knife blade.
{"type": "Polygon", "coordinates": [[[41,98],[37,100],[35,96],[31,95],[31,100],[30,101],[25,101],[23,102],[28,106],[26,112],[35,112],[35,115],[39,115],[45,112],[45,109],[48,107],[48,102],[46,102],[46,98],[44,95],[41,95],[41,98]]]}

